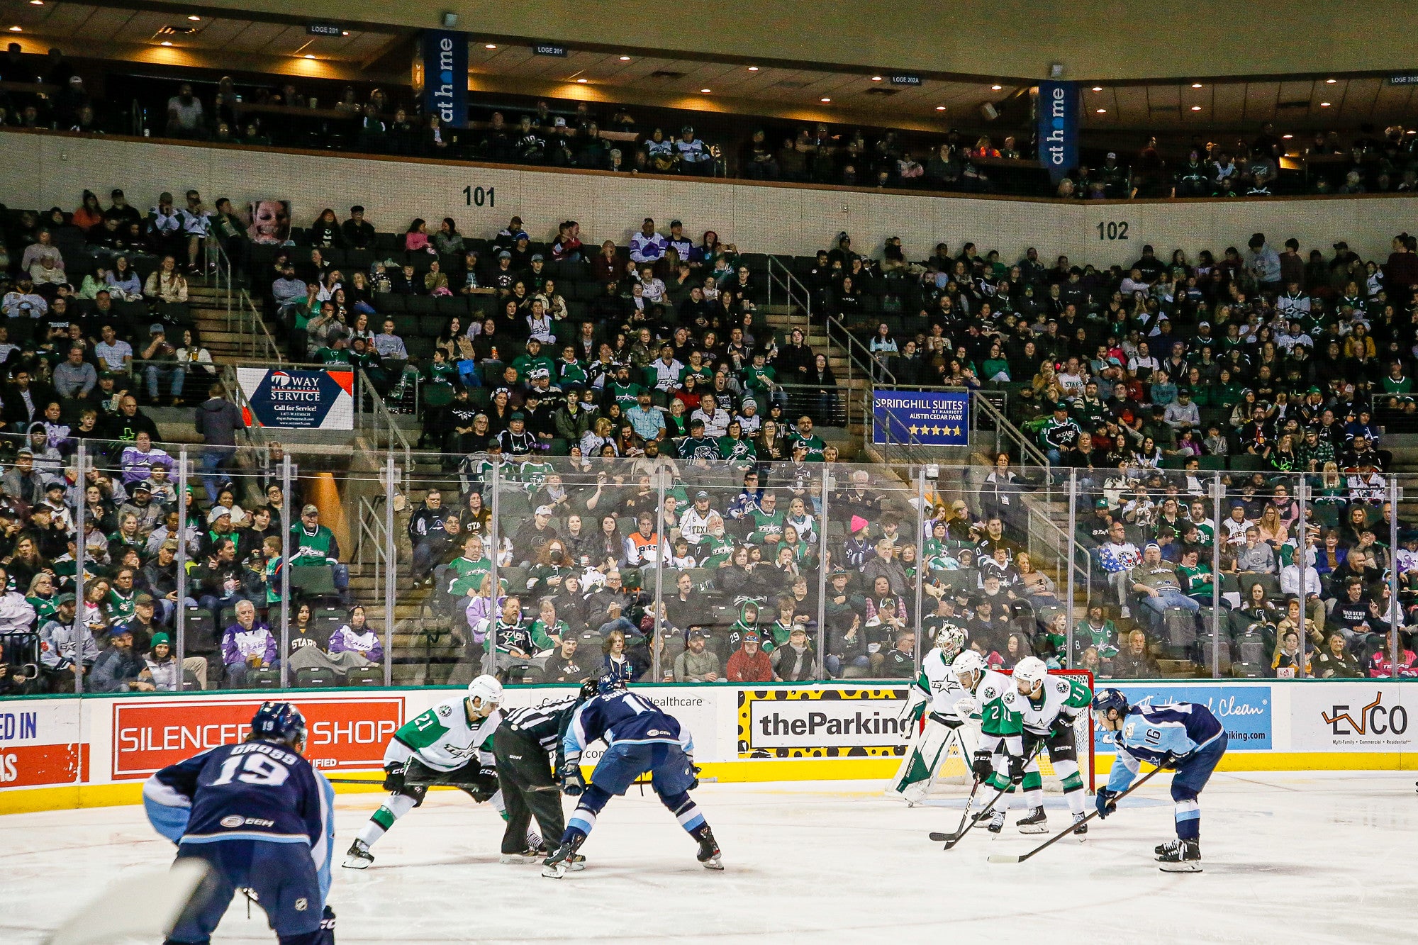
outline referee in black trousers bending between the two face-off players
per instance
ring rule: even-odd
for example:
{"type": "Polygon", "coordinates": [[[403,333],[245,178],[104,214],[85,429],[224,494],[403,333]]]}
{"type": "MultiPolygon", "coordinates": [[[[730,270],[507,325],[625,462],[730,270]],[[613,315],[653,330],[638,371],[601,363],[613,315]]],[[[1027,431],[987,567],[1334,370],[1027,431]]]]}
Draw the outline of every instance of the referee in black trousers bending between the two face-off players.
{"type": "Polygon", "coordinates": [[[540,863],[545,851],[527,849],[527,827],[536,817],[549,840],[566,833],[562,792],[553,772],[562,769],[562,736],[576,707],[596,695],[596,681],[567,695],[529,708],[503,709],[492,738],[498,759],[498,786],[506,805],[508,829],[502,834],[501,863],[540,863]]]}

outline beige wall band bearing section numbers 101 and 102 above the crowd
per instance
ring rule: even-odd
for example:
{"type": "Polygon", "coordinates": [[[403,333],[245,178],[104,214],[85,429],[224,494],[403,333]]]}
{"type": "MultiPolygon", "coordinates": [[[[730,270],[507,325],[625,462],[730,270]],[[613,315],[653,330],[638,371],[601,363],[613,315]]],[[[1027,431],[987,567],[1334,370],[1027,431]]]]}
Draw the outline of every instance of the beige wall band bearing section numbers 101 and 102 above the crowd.
{"type": "Polygon", "coordinates": [[[1195,258],[1202,248],[1219,255],[1228,245],[1245,247],[1252,233],[1262,231],[1276,247],[1296,237],[1305,251],[1320,248],[1329,255],[1333,241],[1347,240],[1361,255],[1384,258],[1394,234],[1418,231],[1415,196],[1065,203],[13,131],[0,132],[0,167],[6,169],[0,201],[10,207],[72,210],[85,187],[104,194],[105,203],[112,187],[123,187],[130,203],[147,209],[162,190],[180,200],[184,189],[197,187],[208,204],[220,196],[238,204],[258,197],[291,200],[298,226],[309,226],[323,207],[345,217],[350,204],[362,203],[381,230],[403,230],[415,216],[432,221],[451,216],[461,231],[491,236],[518,214],[533,238],[550,240],[560,220],[574,217],[587,243],[611,238],[620,244],[645,216],[662,228],[679,217],[686,231],[715,230],[744,253],[811,254],[845,230],[858,251],[872,254],[881,253],[885,238],[900,236],[912,258],[925,258],[939,241],[951,251],[971,241],[981,253],[1000,250],[1007,261],[1034,245],[1045,260],[1064,253],[1075,262],[1110,265],[1136,260],[1144,243],[1163,257],[1180,247],[1195,258]],[[469,206],[478,187],[484,206],[469,206]]]}

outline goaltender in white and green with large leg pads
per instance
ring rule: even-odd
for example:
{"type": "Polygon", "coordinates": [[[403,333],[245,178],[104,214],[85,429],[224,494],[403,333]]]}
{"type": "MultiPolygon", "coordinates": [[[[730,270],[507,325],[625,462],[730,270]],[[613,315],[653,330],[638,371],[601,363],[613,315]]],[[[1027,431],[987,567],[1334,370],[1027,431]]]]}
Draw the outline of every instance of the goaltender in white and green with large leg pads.
{"type": "Polygon", "coordinates": [[[960,654],[964,641],[964,630],[951,623],[942,624],[936,630],[936,646],[922,658],[920,675],[906,697],[909,718],[919,722],[925,715],[926,721],[916,729],[886,793],[903,799],[908,807],[920,803],[930,790],[951,741],[960,749],[966,766],[970,766],[980,746],[978,729],[968,724],[968,717],[960,718],[956,714],[956,702],[966,691],[950,671],[950,661],[960,654]]]}

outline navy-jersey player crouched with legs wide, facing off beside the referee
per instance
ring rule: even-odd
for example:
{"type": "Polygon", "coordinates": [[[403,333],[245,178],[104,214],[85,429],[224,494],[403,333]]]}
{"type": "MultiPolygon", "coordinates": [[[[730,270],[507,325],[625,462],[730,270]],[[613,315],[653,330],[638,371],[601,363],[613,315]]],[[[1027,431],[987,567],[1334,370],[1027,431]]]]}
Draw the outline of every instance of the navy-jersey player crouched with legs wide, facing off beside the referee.
{"type": "Polygon", "coordinates": [[[627,691],[625,681],[603,675],[597,695],[581,702],[562,739],[562,790],[580,803],[562,834],[562,844],[542,861],[542,875],[560,880],[573,867],[573,857],[596,826],[596,816],[617,795],[624,795],[637,778],[649,773],[651,786],[691,837],[699,841],[698,858],[706,870],[722,870],[719,844],[689,792],[699,786],[695,778],[695,742],[679,722],[658,709],[649,700],[627,691]],[[604,739],[591,783],[581,779],[581,752],[604,739]]]}

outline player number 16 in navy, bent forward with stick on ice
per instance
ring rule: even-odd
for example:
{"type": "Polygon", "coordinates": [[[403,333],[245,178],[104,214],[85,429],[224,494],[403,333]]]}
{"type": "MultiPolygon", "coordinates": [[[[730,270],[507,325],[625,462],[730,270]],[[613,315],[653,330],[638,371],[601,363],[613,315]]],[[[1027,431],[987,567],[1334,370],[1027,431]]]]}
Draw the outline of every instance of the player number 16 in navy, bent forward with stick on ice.
{"type": "Polygon", "coordinates": [[[1109,732],[1117,755],[1107,786],[1098,792],[1098,816],[1116,810],[1116,797],[1137,776],[1141,762],[1176,772],[1171,799],[1177,839],[1159,844],[1154,853],[1164,873],[1201,873],[1201,805],[1197,795],[1227,751],[1227,729],[1205,705],[1164,702],[1127,705],[1119,690],[1099,690],[1093,697],[1093,718],[1109,732]]]}

